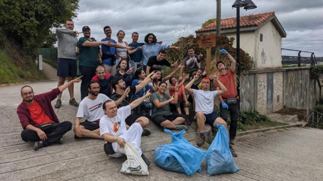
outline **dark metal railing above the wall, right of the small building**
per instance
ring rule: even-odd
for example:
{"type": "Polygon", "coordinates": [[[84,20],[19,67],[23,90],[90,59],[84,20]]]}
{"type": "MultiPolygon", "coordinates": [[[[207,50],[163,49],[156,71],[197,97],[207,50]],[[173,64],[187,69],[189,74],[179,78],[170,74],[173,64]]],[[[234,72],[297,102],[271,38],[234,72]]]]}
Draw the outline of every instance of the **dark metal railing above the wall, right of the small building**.
{"type": "Polygon", "coordinates": [[[286,49],[286,48],[282,48],[282,50],[297,51],[298,52],[297,56],[282,55],[282,64],[297,64],[298,67],[301,66],[301,63],[317,65],[317,61],[316,61],[314,52],[293,50],[293,49],[286,49]],[[310,57],[301,56],[302,52],[310,53],[311,56],[310,57]]]}

